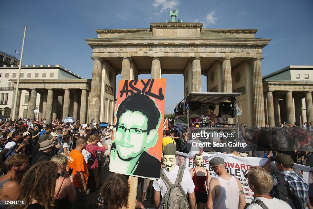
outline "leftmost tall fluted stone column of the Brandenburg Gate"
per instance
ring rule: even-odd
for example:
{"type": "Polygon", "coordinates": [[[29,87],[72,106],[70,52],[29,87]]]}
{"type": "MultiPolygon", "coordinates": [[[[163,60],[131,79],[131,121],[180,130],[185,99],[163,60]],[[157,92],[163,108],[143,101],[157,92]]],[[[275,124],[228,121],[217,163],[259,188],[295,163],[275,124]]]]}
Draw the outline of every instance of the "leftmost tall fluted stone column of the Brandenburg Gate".
{"type": "Polygon", "coordinates": [[[93,58],[94,65],[92,68],[92,80],[90,90],[90,102],[89,102],[89,121],[94,118],[95,121],[99,121],[100,116],[100,88],[101,88],[101,63],[102,59],[99,57],[93,58]]]}

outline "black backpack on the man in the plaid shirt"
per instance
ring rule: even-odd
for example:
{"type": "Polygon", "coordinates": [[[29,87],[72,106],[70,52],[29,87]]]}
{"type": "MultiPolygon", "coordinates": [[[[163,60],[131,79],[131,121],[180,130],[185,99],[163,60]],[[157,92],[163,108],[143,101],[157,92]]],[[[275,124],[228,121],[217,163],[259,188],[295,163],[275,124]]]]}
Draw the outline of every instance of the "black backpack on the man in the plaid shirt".
{"type": "Polygon", "coordinates": [[[275,198],[285,201],[292,209],[301,209],[302,203],[299,196],[295,194],[295,189],[288,185],[284,176],[280,173],[276,174],[279,185],[275,189],[275,198]]]}

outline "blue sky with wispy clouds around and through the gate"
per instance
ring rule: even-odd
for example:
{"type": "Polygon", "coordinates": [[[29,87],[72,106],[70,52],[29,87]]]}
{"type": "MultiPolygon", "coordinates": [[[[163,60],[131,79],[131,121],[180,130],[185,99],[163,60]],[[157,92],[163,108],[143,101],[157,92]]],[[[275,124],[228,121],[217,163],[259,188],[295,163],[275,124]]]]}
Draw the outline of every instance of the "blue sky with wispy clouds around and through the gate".
{"type": "MultiPolygon", "coordinates": [[[[22,65],[59,64],[84,78],[92,75],[91,48],[85,39],[96,38],[95,29],[149,28],[150,23],[166,22],[170,9],[178,9],[183,22],[201,22],[204,28],[258,29],[256,38],[272,39],[263,48],[263,76],[288,65],[313,65],[312,0],[14,0],[2,5],[1,51],[21,52],[26,25],[22,65]]],[[[165,107],[173,112],[183,97],[183,76],[162,77],[167,79],[165,107]]],[[[202,78],[205,90],[206,77],[202,78]]]]}

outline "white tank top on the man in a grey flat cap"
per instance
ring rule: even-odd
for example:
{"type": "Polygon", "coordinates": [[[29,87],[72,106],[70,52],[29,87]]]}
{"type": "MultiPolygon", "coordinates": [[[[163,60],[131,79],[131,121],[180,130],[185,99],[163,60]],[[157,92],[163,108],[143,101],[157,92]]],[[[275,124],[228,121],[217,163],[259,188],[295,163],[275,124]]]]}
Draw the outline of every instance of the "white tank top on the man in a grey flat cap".
{"type": "Polygon", "coordinates": [[[234,176],[229,181],[217,177],[221,184],[221,194],[214,199],[214,209],[230,209],[238,208],[239,205],[239,189],[234,176]]]}

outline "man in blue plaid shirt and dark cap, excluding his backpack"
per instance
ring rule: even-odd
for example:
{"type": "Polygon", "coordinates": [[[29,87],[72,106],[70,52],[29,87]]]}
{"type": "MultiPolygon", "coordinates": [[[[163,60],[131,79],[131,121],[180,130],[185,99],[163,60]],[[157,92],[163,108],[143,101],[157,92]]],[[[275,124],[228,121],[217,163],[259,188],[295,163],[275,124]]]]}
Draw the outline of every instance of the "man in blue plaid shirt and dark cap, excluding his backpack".
{"type": "MultiPolygon", "coordinates": [[[[276,157],[270,157],[269,158],[272,161],[275,161],[275,165],[277,169],[280,171],[280,173],[284,176],[287,183],[294,188],[295,194],[298,195],[301,199],[302,208],[306,209],[308,208],[306,206],[307,199],[308,199],[308,191],[309,186],[305,183],[305,181],[295,174],[295,172],[292,170],[293,166],[295,165],[290,158],[290,156],[286,154],[278,153],[276,157]]],[[[270,196],[275,196],[275,189],[276,185],[279,184],[277,176],[273,175],[274,179],[274,186],[273,189],[269,192],[270,196]]]]}

